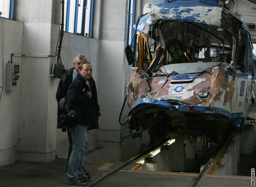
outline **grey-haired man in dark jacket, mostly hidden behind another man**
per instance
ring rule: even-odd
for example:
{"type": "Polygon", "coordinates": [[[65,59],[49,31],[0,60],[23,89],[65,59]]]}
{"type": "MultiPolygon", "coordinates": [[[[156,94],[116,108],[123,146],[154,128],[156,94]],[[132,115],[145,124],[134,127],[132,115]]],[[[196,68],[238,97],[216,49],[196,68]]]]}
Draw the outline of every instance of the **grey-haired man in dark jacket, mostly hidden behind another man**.
{"type": "MultiPolygon", "coordinates": [[[[60,82],[59,82],[59,86],[58,86],[58,90],[56,92],[56,99],[57,99],[58,104],[60,102],[60,99],[62,99],[63,97],[66,97],[70,84],[76,78],[76,75],[77,75],[77,72],[78,72],[78,67],[84,61],[87,61],[87,58],[85,56],[83,56],[82,54],[76,55],[76,57],[73,60],[74,67],[68,69],[68,71],[66,71],[63,74],[63,76],[61,77],[60,82]]],[[[57,125],[57,128],[62,128],[63,127],[63,125],[61,125],[60,119],[59,119],[59,116],[62,113],[63,113],[63,111],[60,109],[60,107],[58,107],[58,125],[57,125]]],[[[68,126],[68,121],[66,122],[66,126],[68,126]]],[[[70,154],[72,152],[72,138],[71,138],[71,134],[70,134],[69,130],[68,130],[68,141],[69,141],[69,149],[68,149],[68,161],[69,161],[69,157],[70,157],[70,154]]],[[[68,161],[67,161],[66,171],[68,169],[68,161]]],[[[90,175],[90,174],[87,173],[87,175],[90,175]]]]}

